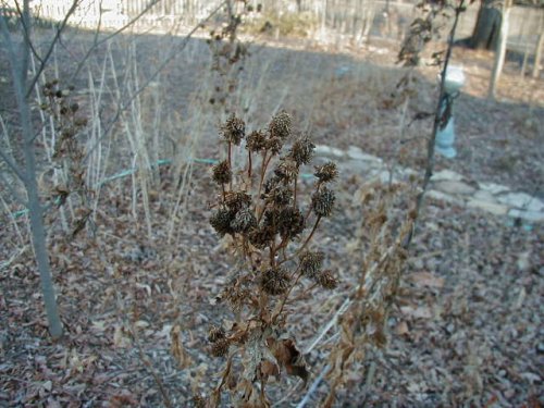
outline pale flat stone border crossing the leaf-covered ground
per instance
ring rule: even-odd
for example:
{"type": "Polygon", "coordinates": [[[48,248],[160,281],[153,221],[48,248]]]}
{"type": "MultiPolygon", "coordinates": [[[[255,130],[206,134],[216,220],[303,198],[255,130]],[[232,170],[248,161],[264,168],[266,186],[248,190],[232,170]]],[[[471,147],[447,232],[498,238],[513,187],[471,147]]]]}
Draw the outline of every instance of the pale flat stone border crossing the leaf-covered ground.
{"type": "MultiPolygon", "coordinates": [[[[342,159],[341,169],[349,172],[357,171],[369,175],[370,178],[379,178],[387,182],[391,178],[390,169],[382,159],[363,152],[357,146],[349,146],[342,150],[325,145],[316,147],[319,157],[332,157],[342,159]]],[[[393,180],[416,174],[408,168],[396,166],[393,171],[393,180]]],[[[512,191],[509,187],[494,183],[469,183],[465,176],[452,170],[436,172],[431,178],[428,196],[450,202],[456,206],[473,208],[490,212],[495,215],[507,215],[521,219],[529,223],[544,223],[544,202],[527,193],[512,191]]]]}

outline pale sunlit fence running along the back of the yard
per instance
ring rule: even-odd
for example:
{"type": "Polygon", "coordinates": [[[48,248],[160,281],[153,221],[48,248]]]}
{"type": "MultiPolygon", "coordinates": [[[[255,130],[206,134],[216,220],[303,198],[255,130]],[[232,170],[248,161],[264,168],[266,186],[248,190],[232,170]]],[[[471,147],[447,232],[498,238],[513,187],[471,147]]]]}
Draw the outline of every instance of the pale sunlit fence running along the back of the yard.
{"type": "MultiPolygon", "coordinates": [[[[5,15],[13,20],[10,3],[5,15]]],[[[194,25],[217,8],[221,0],[79,0],[71,18],[83,27],[115,28],[123,26],[145,11],[137,25],[171,26],[194,25]],[[154,5],[149,8],[150,3],[154,5]],[[148,10],[147,10],[148,9],[148,10]]],[[[73,0],[33,1],[35,15],[42,21],[62,21],[73,0]]],[[[234,2],[238,3],[238,2],[234,2]]],[[[356,39],[369,36],[401,40],[418,11],[413,2],[390,0],[249,0],[254,10],[264,15],[274,13],[307,13],[321,28],[356,39]]],[[[479,3],[474,2],[461,14],[457,38],[471,35],[478,17],[479,3]]],[[[514,7],[510,12],[508,49],[534,53],[539,35],[544,30],[544,9],[514,7]]]]}

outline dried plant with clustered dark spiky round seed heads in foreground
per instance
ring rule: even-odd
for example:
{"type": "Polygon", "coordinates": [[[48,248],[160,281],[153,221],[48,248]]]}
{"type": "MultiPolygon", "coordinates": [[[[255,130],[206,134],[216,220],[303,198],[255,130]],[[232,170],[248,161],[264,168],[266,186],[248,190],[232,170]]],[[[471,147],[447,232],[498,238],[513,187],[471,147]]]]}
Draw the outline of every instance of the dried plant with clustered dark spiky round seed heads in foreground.
{"type": "Polygon", "coordinates": [[[235,407],[269,407],[271,376],[309,376],[286,327],[289,295],[297,285],[329,290],[337,285],[312,240],[320,221],[333,211],[331,184],[337,169],[333,162],[317,166],[311,195],[301,196],[301,169],[312,161],[314,145],[308,135],[294,137],[286,112],[252,132],[231,115],[221,126],[221,138],[226,153],[212,169],[218,198],[210,224],[233,249],[233,272],[220,301],[228,305],[235,319],[210,327],[209,353],[226,363],[206,404],[201,396],[195,400],[217,407],[228,394],[235,407]],[[237,169],[234,149],[247,154],[237,169]]]}

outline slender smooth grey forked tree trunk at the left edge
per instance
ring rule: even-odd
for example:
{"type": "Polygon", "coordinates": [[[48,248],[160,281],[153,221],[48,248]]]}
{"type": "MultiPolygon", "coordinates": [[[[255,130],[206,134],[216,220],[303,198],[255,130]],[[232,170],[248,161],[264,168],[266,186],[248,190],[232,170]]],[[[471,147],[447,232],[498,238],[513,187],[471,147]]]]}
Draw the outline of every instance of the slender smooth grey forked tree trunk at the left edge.
{"type": "Polygon", "coordinates": [[[23,173],[22,171],[18,171],[18,174],[23,175],[23,182],[25,185],[26,194],[28,196],[32,242],[36,262],[38,264],[41,292],[44,295],[44,302],[46,306],[46,313],[49,324],[49,333],[51,334],[51,337],[59,338],[60,336],[62,336],[62,323],[59,317],[59,311],[57,309],[57,299],[54,296],[54,287],[51,279],[49,255],[46,246],[44,209],[39,202],[38,184],[36,181],[34,131],[32,125],[30,108],[28,106],[28,99],[26,98],[28,84],[28,58],[30,51],[30,17],[28,1],[29,0],[24,0],[23,3],[22,23],[24,27],[24,36],[21,45],[20,55],[17,55],[15,52],[13,41],[3,16],[0,16],[0,24],[2,36],[9,51],[13,88],[15,91],[15,99],[23,132],[25,172],[23,173]]]}

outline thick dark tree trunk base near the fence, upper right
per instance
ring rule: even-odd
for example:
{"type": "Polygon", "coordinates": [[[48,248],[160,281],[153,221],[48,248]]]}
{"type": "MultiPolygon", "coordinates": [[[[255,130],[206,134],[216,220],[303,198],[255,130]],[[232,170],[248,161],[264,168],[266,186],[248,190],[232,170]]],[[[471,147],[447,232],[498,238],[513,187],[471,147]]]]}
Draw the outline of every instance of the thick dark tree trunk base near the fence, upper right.
{"type": "Polygon", "coordinates": [[[470,48],[495,50],[500,35],[502,13],[494,0],[482,0],[478,20],[469,40],[470,48]]]}

